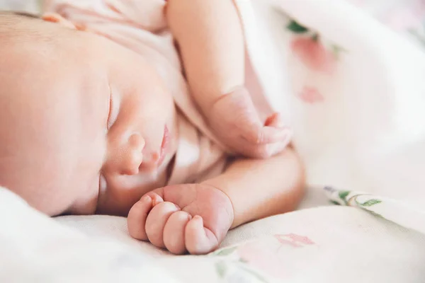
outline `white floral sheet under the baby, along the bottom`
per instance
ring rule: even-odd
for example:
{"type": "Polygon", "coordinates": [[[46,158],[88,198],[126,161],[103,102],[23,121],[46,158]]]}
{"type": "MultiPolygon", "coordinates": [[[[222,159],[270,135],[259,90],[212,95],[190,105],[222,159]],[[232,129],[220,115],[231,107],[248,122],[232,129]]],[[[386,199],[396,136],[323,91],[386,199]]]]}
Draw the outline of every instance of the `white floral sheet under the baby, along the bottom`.
{"type": "MultiPolygon", "coordinates": [[[[0,0],[0,8],[36,11],[36,4],[0,0]]],[[[309,187],[301,211],[230,231],[222,253],[174,257],[130,238],[123,218],[49,219],[0,189],[0,281],[424,282],[423,234],[328,205],[321,187],[309,187]]]]}

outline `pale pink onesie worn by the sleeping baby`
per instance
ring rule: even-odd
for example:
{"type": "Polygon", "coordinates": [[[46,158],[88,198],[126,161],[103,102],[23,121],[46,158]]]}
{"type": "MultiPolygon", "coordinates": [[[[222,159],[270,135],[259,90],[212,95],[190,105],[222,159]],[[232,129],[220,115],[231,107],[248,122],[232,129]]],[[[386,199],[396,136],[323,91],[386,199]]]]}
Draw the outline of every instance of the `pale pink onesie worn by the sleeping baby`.
{"type": "MultiPolygon", "coordinates": [[[[188,91],[179,54],[167,29],[164,0],[53,0],[45,11],[59,13],[87,31],[141,54],[157,69],[179,112],[179,141],[169,185],[200,182],[222,173],[226,149],[205,124],[188,91]]],[[[247,87],[262,117],[271,108],[247,57],[247,87]],[[252,95],[256,93],[256,95],[252,95]]]]}

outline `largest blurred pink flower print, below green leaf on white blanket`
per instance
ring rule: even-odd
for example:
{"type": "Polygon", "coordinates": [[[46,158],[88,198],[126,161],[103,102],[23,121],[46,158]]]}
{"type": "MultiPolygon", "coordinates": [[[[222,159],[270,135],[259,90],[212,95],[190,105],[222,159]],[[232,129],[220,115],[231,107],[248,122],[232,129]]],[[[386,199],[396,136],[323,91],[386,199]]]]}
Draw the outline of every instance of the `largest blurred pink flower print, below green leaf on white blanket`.
{"type": "Polygon", "coordinates": [[[332,74],[336,67],[336,57],[319,42],[317,35],[313,37],[296,37],[290,44],[291,50],[302,64],[313,71],[332,74]]]}

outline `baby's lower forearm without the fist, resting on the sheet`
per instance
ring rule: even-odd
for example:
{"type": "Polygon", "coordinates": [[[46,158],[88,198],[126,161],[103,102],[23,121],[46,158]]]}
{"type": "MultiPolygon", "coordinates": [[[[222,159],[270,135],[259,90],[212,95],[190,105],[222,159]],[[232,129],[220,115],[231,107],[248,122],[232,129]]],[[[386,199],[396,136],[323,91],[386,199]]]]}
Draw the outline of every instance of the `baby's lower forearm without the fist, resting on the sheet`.
{"type": "Polygon", "coordinates": [[[233,205],[231,228],[293,211],[302,199],[304,172],[293,149],[266,160],[239,159],[203,184],[225,192],[233,205]]]}

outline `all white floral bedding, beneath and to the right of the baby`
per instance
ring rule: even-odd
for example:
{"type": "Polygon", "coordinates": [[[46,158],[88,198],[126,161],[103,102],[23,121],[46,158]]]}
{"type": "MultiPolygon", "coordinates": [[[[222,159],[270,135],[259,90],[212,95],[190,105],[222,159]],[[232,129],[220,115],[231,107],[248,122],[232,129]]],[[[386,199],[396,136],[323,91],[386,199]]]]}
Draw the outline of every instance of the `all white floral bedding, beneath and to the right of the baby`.
{"type": "Polygon", "coordinates": [[[0,189],[0,282],[424,282],[424,30],[395,33],[382,16],[413,9],[421,23],[423,1],[237,2],[272,42],[256,61],[263,82],[292,89],[270,99],[289,108],[307,166],[302,207],[327,204],[324,185],[352,207],[263,219],[216,253],[174,257],[132,240],[123,218],[49,219],[0,189]]]}

